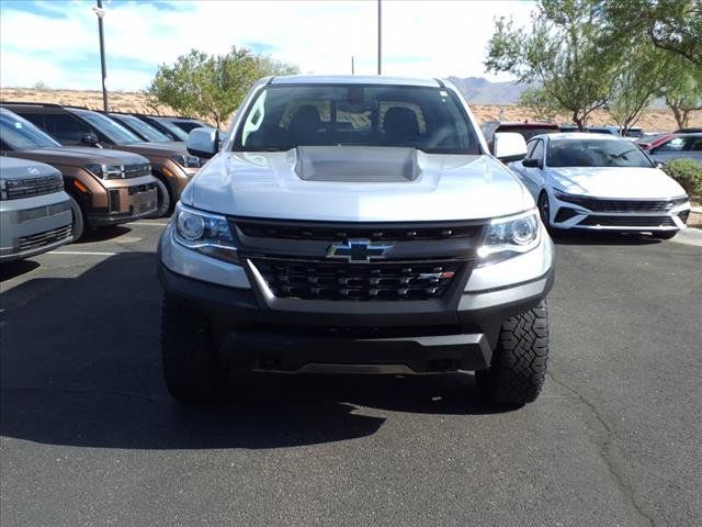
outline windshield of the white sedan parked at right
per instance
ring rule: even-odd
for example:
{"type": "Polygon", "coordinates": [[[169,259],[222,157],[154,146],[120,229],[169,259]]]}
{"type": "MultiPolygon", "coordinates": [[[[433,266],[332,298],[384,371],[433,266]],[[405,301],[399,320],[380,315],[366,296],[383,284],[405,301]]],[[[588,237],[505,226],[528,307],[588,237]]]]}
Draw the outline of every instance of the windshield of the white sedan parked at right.
{"type": "Polygon", "coordinates": [[[638,146],[627,139],[552,139],[550,167],[646,167],[653,165],[638,146]]]}

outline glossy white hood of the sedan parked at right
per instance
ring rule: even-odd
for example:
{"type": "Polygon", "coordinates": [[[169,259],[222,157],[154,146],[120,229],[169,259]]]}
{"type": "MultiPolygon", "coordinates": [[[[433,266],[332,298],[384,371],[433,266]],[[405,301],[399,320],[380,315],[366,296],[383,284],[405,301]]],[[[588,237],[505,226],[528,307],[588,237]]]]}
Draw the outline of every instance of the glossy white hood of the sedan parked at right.
{"type": "Polygon", "coordinates": [[[619,199],[661,199],[684,194],[658,168],[573,167],[548,168],[553,186],[569,194],[619,199]]]}

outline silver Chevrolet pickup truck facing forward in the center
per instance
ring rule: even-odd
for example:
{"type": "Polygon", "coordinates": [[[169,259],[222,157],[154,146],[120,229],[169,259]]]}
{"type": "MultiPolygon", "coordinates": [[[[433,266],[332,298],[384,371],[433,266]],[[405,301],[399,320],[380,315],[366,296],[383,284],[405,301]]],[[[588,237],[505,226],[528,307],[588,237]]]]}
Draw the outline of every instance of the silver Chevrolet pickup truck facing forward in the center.
{"type": "Polygon", "coordinates": [[[448,82],[259,81],[159,243],[162,356],[184,402],[240,370],[476,371],[490,401],[544,382],[554,249],[534,201],[448,82]]]}

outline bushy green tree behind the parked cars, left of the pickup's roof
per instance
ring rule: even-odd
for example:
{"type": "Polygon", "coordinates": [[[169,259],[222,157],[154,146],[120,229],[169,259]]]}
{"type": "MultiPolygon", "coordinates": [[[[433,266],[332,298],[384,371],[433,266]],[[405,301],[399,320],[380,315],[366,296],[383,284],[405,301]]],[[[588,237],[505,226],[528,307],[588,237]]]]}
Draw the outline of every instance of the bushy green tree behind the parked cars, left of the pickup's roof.
{"type": "Polygon", "coordinates": [[[159,66],[147,90],[151,101],[215,123],[226,122],[258,79],[297,72],[294,65],[233,47],[226,55],[207,55],[192,49],[173,65],[159,66]]]}

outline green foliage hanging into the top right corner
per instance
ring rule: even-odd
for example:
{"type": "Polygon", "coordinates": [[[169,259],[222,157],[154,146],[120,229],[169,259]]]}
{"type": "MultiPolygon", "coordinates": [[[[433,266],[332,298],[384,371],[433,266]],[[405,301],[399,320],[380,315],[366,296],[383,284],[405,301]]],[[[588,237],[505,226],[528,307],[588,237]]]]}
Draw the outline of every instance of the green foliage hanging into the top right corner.
{"type": "Polygon", "coordinates": [[[644,37],[689,66],[702,64],[700,0],[605,0],[601,7],[613,40],[627,43],[644,37]]]}

